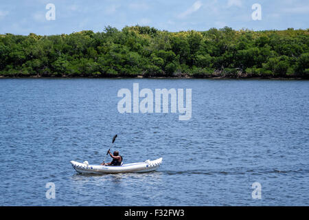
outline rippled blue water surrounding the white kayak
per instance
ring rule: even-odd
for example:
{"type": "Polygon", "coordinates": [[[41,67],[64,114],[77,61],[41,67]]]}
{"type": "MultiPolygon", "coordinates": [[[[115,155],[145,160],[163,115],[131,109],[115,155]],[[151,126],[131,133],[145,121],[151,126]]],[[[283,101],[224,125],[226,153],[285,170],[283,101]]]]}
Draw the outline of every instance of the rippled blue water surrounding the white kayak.
{"type": "Polygon", "coordinates": [[[308,206],[306,80],[1,79],[1,206],[308,206]],[[192,118],[117,111],[117,91],[191,88],[192,118]],[[80,175],[163,157],[144,174],[80,175]],[[258,181],[262,199],[253,199],[258,181]],[[48,182],[56,199],[47,199],[48,182]]]}

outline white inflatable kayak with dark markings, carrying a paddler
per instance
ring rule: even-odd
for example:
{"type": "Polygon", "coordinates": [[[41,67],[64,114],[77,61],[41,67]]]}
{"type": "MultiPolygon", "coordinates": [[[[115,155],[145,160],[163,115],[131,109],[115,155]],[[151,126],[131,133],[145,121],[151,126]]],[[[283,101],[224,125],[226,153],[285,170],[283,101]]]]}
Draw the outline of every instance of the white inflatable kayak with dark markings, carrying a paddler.
{"type": "Polygon", "coordinates": [[[145,173],[157,170],[162,164],[162,159],[162,157],[155,160],[147,159],[145,162],[122,164],[121,166],[89,165],[87,161],[80,163],[73,160],[71,164],[78,173],[145,173]]]}

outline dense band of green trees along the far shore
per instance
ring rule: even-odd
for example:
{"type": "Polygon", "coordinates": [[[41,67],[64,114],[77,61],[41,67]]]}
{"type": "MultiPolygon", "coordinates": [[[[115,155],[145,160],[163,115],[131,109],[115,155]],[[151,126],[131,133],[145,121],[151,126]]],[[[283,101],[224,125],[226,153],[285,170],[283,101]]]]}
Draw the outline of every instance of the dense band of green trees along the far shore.
{"type": "Polygon", "coordinates": [[[308,78],[309,29],[0,35],[0,76],[308,78]]]}

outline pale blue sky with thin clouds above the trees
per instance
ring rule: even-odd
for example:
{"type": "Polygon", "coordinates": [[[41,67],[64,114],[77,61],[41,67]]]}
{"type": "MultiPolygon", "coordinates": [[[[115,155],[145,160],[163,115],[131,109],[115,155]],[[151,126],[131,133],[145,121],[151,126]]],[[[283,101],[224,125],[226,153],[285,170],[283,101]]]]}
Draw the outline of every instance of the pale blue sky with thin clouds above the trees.
{"type": "Polygon", "coordinates": [[[102,32],[111,25],[149,25],[159,30],[284,30],[309,28],[308,0],[1,0],[0,34],[69,34],[102,32]],[[56,19],[45,19],[47,3],[56,19]],[[262,7],[262,20],[253,21],[252,5],[262,7]]]}

